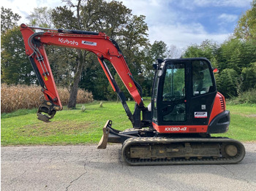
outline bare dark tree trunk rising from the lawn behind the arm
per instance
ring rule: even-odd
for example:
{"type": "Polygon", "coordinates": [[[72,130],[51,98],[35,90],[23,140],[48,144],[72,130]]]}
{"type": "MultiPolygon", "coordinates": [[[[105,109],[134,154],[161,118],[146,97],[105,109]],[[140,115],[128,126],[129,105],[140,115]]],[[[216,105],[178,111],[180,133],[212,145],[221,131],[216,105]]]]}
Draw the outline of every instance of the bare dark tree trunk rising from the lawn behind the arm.
{"type": "Polygon", "coordinates": [[[72,84],[70,85],[70,95],[69,95],[69,101],[67,103],[67,108],[69,109],[75,109],[75,106],[77,104],[78,84],[80,82],[80,77],[86,63],[85,58],[86,58],[86,52],[82,50],[78,50],[78,69],[75,72],[75,77],[73,79],[72,84]]]}

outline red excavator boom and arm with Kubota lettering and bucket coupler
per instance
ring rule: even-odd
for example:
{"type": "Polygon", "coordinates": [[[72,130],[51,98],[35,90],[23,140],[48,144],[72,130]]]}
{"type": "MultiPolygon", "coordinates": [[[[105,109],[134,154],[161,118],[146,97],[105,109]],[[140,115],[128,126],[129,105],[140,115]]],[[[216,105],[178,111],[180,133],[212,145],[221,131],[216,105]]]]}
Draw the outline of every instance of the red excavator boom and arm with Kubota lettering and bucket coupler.
{"type": "Polygon", "coordinates": [[[23,35],[26,55],[29,56],[31,65],[37,75],[37,79],[39,80],[39,85],[42,87],[42,93],[45,96],[45,101],[43,101],[39,106],[37,112],[39,120],[48,122],[53,118],[54,114],[56,114],[56,111],[62,109],[59,94],[50,69],[50,63],[44,47],[44,45],[55,45],[59,47],[87,50],[94,52],[94,54],[97,55],[98,61],[102,66],[110,85],[113,87],[113,90],[118,93],[129,120],[131,120],[132,124],[135,126],[136,122],[134,118],[136,117],[134,117],[134,114],[130,112],[125,101],[124,94],[121,92],[115,79],[113,79],[113,76],[110,74],[108,66],[105,64],[104,60],[110,61],[113,68],[116,69],[116,72],[122,82],[124,82],[124,85],[127,87],[130,95],[132,95],[132,98],[136,102],[138,108],[144,108],[140,94],[141,88],[133,79],[131,71],[129,71],[127,63],[124,60],[124,56],[122,55],[118,44],[113,39],[110,39],[110,37],[104,33],[37,28],[29,27],[25,24],[20,26],[20,31],[23,35]],[[40,29],[43,32],[35,33],[32,29],[40,29]],[[46,113],[48,115],[42,113],[46,113]]]}

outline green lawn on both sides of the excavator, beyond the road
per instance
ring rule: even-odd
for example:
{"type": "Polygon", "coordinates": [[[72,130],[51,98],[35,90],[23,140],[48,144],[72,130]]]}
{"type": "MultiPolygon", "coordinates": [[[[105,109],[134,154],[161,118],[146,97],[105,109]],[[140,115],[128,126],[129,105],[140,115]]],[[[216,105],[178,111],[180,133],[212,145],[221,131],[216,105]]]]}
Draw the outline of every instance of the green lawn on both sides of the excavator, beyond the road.
{"type": "MultiPolygon", "coordinates": [[[[146,101],[149,102],[149,101],[146,101]]],[[[147,103],[148,104],[148,103],[147,103]]],[[[132,128],[121,103],[99,102],[84,104],[86,111],[78,109],[57,112],[51,122],[37,120],[36,109],[21,109],[10,114],[1,114],[1,146],[8,145],[65,145],[97,143],[102,136],[102,127],[113,120],[113,128],[132,128]]],[[[128,101],[133,111],[135,103],[128,101]]],[[[224,134],[239,141],[256,140],[256,105],[227,105],[231,113],[230,130],[224,134]]]]}

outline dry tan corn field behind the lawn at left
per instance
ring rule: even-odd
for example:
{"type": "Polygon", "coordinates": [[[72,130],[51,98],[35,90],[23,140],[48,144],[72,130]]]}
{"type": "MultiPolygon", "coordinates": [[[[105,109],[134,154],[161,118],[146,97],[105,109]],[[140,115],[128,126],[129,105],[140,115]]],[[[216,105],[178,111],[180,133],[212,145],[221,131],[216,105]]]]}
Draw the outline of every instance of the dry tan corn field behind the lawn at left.
{"type": "MultiPolygon", "coordinates": [[[[67,88],[58,87],[59,97],[62,105],[67,105],[69,91],[67,88]]],[[[37,108],[41,104],[41,87],[31,85],[1,85],[1,113],[13,112],[18,109],[37,108]]],[[[43,97],[44,98],[44,97],[43,97]]],[[[78,90],[77,104],[93,101],[93,96],[84,90],[78,90]]]]}

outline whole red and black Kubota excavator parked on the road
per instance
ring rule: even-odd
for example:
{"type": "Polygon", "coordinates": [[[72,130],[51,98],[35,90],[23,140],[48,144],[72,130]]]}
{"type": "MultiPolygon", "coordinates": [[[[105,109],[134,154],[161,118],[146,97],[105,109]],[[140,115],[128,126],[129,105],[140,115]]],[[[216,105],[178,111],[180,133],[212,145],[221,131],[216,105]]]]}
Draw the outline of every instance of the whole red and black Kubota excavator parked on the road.
{"type": "Polygon", "coordinates": [[[214,72],[206,58],[159,59],[155,63],[151,104],[143,104],[142,89],[132,77],[118,44],[104,33],[20,26],[26,55],[34,69],[45,101],[37,117],[48,122],[62,109],[44,45],[94,52],[118,94],[133,128],[120,131],[108,120],[98,149],[108,142],[122,144],[121,155],[129,165],[232,164],[243,160],[244,145],[211,133],[225,133],[230,112],[217,92],[214,72]],[[40,32],[34,32],[40,29],[40,32]],[[135,111],[110,74],[105,60],[116,69],[135,101],[135,111]]]}

